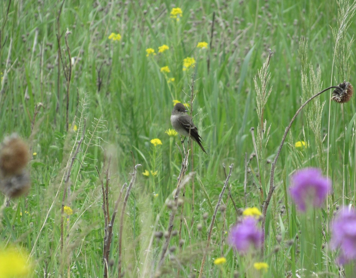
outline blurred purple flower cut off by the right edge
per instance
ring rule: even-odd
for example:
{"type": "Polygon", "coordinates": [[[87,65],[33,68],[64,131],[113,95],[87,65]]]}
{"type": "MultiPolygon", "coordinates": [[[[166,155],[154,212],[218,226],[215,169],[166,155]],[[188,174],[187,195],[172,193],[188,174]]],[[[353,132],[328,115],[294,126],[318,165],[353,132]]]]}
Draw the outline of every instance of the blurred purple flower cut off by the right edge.
{"type": "Polygon", "coordinates": [[[356,259],[356,211],[354,208],[343,208],[331,224],[331,246],[340,248],[337,261],[345,264],[356,259]]]}

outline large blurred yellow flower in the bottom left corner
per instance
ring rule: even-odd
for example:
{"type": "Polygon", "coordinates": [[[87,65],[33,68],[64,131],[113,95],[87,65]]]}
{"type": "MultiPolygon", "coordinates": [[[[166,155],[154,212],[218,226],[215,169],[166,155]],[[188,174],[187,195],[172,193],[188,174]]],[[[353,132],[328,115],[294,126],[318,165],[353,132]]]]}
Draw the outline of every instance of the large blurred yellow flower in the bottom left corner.
{"type": "Polygon", "coordinates": [[[0,277],[27,277],[31,272],[31,263],[27,262],[28,255],[15,248],[0,248],[0,277]]]}

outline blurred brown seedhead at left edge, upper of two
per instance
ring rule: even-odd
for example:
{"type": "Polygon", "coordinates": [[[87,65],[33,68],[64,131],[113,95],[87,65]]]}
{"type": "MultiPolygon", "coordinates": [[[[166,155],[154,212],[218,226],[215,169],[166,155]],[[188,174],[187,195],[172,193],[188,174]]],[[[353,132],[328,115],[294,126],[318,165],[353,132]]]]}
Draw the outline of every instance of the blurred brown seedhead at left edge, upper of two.
{"type": "Polygon", "coordinates": [[[29,160],[28,147],[21,138],[11,135],[4,139],[0,147],[0,170],[3,176],[21,173],[29,160]]]}

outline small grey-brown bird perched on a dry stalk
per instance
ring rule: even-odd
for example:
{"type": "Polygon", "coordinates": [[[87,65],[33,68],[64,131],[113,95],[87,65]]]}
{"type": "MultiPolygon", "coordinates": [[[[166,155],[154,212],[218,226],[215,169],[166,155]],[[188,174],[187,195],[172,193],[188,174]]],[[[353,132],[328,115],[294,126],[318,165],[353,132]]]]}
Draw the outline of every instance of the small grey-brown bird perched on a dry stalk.
{"type": "Polygon", "coordinates": [[[197,142],[201,150],[206,153],[204,147],[201,145],[201,137],[198,134],[198,129],[187,112],[188,110],[185,109],[182,103],[178,102],[174,105],[171,115],[172,126],[180,135],[185,137],[189,137],[190,130],[190,137],[197,142]]]}

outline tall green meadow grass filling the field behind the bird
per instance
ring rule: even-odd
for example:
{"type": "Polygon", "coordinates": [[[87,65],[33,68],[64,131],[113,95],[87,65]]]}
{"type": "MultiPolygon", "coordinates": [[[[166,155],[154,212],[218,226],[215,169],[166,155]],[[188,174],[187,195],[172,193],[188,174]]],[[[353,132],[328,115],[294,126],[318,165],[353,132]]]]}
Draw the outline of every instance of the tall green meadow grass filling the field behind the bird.
{"type": "MultiPolygon", "coordinates": [[[[234,277],[234,272],[239,272],[240,277],[244,277],[244,272],[247,277],[286,277],[288,271],[307,267],[319,277],[338,276],[336,253],[320,247],[330,239],[328,225],[336,206],[355,203],[354,99],[342,106],[333,102],[329,111],[330,92],[319,97],[320,103],[325,102],[320,115],[320,134],[310,128],[308,113],[302,111],[293,123],[276,167],[276,190],[267,213],[264,255],[239,256],[227,244],[225,233],[237,218],[232,200],[237,208],[246,207],[245,153],[247,159],[255,154],[250,128],[255,128],[257,138],[257,128],[261,125],[256,113],[253,79],[256,77],[260,84],[258,71],[266,61],[268,50],[273,51],[268,68],[271,79],[267,84],[267,90],[272,88],[272,92],[263,120],[267,121],[266,131],[268,127],[270,131],[262,141],[265,147],[258,148],[260,164],[256,157],[248,160],[248,207],[262,210],[266,196],[261,197],[259,187],[266,195],[270,162],[285,127],[302,104],[303,62],[298,51],[302,40],[308,41],[305,63],[311,65],[305,67],[305,74],[311,76],[311,70],[320,69],[321,89],[348,78],[351,84],[354,82],[354,53],[348,59],[349,71],[340,69],[337,56],[333,64],[336,42],[332,30],[339,29],[336,2],[182,0],[174,2],[183,10],[182,17],[176,21],[169,16],[174,7],[171,1],[113,0],[94,4],[64,1],[58,24],[61,1],[11,1],[8,13],[9,1],[0,5],[1,138],[16,132],[27,140],[31,153],[37,153],[28,166],[32,180],[30,193],[12,199],[9,207],[1,207],[0,244],[21,246],[31,253],[35,262],[33,277],[103,277],[104,160],[108,162],[111,158],[108,195],[111,215],[121,187],[131,180],[131,152],[135,163],[142,166],[137,168],[136,182],[127,200],[122,258],[117,254],[125,190],[119,202],[109,277],[117,276],[119,261],[125,277],[148,277],[158,270],[164,237],[158,240],[153,235],[168,230],[171,209],[167,204],[173,199],[182,163],[174,145],[177,142],[182,150],[179,136],[171,142],[165,131],[171,128],[173,100],[190,102],[193,76],[194,122],[208,155],[193,144],[190,155],[193,153],[194,161],[189,157],[187,174],[194,171],[195,176],[185,185],[184,197],[183,191],[180,193],[184,202],[178,208],[173,230],[179,230],[182,220],[181,233],[171,239],[169,247],[176,246],[176,250],[168,252],[160,268],[162,275],[198,277],[194,269],[199,271],[206,255],[205,277],[234,277]],[[67,81],[58,58],[56,36],[59,36],[63,63],[69,66],[64,40],[67,29],[71,32],[70,55],[75,61],[69,87],[68,131],[67,81]],[[121,40],[109,40],[111,32],[119,33],[121,40]],[[211,48],[198,49],[200,41],[211,43],[211,48]],[[158,53],[158,46],[163,44],[169,50],[158,53]],[[146,57],[147,48],[155,49],[157,55],[146,57]],[[182,70],[186,57],[194,57],[195,69],[182,70]],[[170,72],[160,72],[163,66],[169,66],[170,72]],[[174,81],[167,82],[168,78],[174,81]],[[73,130],[74,126],[78,130],[73,130]],[[68,165],[83,132],[84,140],[70,169],[70,180],[65,183],[68,165]],[[153,138],[159,138],[162,145],[154,147],[150,143],[153,138]],[[308,142],[306,150],[294,148],[294,143],[300,140],[308,142]],[[321,142],[319,149],[318,142],[321,142]],[[229,181],[232,200],[227,189],[223,196],[226,209],[218,212],[210,247],[205,248],[225,171],[229,171],[232,163],[229,181]],[[334,189],[328,206],[314,212],[314,220],[313,217],[304,219],[288,194],[289,175],[296,167],[308,166],[323,166],[334,189]],[[142,175],[145,170],[158,172],[156,176],[146,177],[142,175]],[[64,204],[74,214],[68,217],[68,222],[64,221],[61,250],[61,206],[66,187],[70,188],[70,196],[65,197],[64,204]],[[208,213],[207,218],[204,213],[208,213]],[[310,246],[305,249],[300,245],[303,221],[310,221],[313,231],[321,231],[321,225],[325,228],[325,237],[315,233],[314,247],[319,252],[315,252],[314,258],[305,253],[310,246]],[[202,226],[201,231],[198,224],[202,226]],[[179,244],[180,238],[183,241],[179,244]],[[213,261],[223,256],[227,263],[220,269],[213,261]],[[267,272],[255,273],[251,263],[257,259],[269,264],[267,272]],[[310,266],[305,263],[308,260],[317,265],[310,266]]],[[[340,47],[347,47],[355,32],[355,23],[351,22],[340,47]]],[[[4,196],[0,199],[5,202],[4,196]]]]}

